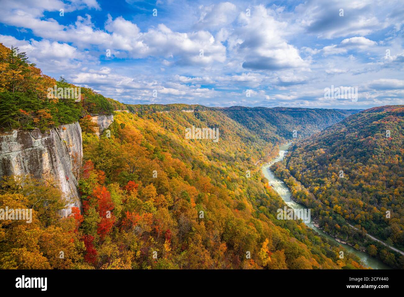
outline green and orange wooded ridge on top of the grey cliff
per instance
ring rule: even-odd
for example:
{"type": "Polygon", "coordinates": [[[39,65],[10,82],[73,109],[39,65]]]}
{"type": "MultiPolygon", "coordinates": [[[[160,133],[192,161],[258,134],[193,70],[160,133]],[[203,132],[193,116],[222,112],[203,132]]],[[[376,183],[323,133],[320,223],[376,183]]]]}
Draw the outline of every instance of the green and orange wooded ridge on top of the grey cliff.
{"type": "Polygon", "coordinates": [[[29,63],[18,48],[0,43],[0,129],[34,129],[42,131],[61,124],[76,122],[86,114],[111,114],[122,103],[105,98],[90,88],[81,88],[80,98],[49,96],[48,88],[73,88],[64,78],[58,81],[29,63]]]}

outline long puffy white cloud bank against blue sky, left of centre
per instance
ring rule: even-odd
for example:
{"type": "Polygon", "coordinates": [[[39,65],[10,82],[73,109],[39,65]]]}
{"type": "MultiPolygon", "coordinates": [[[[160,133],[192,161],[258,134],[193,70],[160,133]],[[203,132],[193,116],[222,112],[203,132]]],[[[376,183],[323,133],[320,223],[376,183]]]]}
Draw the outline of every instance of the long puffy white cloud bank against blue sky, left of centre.
{"type": "MultiPolygon", "coordinates": [[[[73,32],[80,32],[75,43],[97,45],[99,48],[111,50],[111,54],[120,58],[145,58],[149,56],[173,58],[181,65],[224,62],[226,48],[217,42],[208,31],[190,33],[174,32],[164,24],[141,32],[139,27],[123,17],[112,19],[108,15],[105,23],[107,32],[93,28],[90,16],[78,19],[75,26],[70,27],[73,32]]],[[[65,34],[69,35],[69,31],[65,34]]],[[[67,36],[65,36],[67,38],[67,36]]],[[[63,38],[64,39],[64,38],[63,38]]],[[[164,61],[169,65],[173,61],[164,61]]]]}

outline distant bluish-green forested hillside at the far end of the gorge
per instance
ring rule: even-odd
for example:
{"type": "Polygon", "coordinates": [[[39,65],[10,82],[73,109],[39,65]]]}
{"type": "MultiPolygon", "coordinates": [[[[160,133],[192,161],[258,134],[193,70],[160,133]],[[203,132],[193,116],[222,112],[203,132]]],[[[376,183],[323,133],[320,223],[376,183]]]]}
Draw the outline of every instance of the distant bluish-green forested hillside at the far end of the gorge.
{"type": "Polygon", "coordinates": [[[297,138],[308,137],[360,111],[244,106],[225,107],[220,110],[264,140],[274,142],[292,139],[294,130],[297,132],[297,138]]]}

